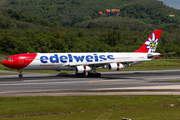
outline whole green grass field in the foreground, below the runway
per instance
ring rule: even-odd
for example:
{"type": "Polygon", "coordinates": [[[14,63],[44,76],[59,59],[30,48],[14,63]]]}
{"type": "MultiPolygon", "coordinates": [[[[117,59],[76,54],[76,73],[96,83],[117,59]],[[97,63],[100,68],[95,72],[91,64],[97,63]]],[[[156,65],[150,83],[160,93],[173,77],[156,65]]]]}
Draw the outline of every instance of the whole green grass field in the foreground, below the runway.
{"type": "Polygon", "coordinates": [[[133,120],[179,120],[180,106],[163,106],[170,104],[180,105],[180,96],[1,97],[0,117],[17,115],[4,118],[17,120],[115,120],[121,117],[133,120]],[[27,114],[31,116],[18,117],[27,114]]]}

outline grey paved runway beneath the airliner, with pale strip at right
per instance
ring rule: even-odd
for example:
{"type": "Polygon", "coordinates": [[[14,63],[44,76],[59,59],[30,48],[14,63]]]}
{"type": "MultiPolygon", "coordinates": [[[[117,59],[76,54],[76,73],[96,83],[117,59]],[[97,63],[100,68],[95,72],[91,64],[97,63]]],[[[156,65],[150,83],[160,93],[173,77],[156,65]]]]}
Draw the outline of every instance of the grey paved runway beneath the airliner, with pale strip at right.
{"type": "Polygon", "coordinates": [[[41,95],[180,95],[180,70],[102,72],[98,77],[76,77],[75,74],[24,73],[0,76],[0,96],[41,95]]]}

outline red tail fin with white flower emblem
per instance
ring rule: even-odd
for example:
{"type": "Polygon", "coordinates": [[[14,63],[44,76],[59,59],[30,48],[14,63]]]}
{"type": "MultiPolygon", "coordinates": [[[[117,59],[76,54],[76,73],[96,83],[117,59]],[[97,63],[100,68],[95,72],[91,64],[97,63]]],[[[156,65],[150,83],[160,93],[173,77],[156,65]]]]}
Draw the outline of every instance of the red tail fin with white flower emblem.
{"type": "Polygon", "coordinates": [[[135,53],[154,53],[161,36],[161,32],[162,30],[155,30],[141,48],[135,51],[135,53]]]}

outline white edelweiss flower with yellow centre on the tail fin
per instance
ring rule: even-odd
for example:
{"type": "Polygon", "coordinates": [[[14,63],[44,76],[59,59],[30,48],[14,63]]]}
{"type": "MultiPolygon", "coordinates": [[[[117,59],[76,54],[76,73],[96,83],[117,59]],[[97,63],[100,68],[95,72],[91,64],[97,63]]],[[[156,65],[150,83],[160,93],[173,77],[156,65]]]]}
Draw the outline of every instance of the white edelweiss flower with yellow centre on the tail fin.
{"type": "Polygon", "coordinates": [[[156,39],[156,36],[155,36],[155,34],[153,33],[153,34],[152,34],[152,39],[149,38],[149,41],[146,41],[145,44],[147,45],[146,48],[149,49],[149,50],[148,50],[148,53],[154,53],[155,50],[156,50],[156,46],[157,46],[157,44],[158,44],[158,38],[156,39]]]}

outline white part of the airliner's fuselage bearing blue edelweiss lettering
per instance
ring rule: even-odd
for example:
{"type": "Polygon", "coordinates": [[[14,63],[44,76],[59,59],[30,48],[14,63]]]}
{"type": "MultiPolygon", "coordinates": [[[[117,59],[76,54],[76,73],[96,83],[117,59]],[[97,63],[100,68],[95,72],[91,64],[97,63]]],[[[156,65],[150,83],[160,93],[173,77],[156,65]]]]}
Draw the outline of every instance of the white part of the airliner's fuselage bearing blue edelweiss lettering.
{"type": "MultiPolygon", "coordinates": [[[[153,53],[159,55],[159,53],[153,53]]],[[[80,65],[107,65],[149,61],[148,53],[37,53],[35,59],[23,70],[73,70],[80,65]]]]}

